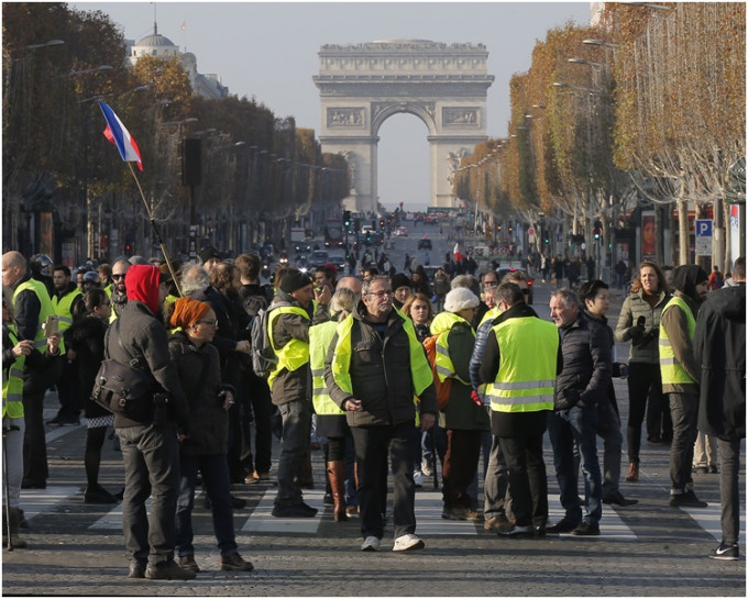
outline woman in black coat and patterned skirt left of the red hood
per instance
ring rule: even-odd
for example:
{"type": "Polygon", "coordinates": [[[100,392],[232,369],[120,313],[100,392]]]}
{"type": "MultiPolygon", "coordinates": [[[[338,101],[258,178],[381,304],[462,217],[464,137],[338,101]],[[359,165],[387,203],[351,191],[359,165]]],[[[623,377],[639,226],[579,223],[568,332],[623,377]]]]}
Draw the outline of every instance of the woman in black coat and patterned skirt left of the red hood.
{"type": "Polygon", "coordinates": [[[103,339],[110,312],[111,301],[105,290],[89,289],[84,301],[75,304],[73,324],[65,331],[65,343],[76,356],[80,389],[78,404],[84,408],[88,423],[84,454],[88,482],[84,495],[86,503],[117,503],[117,499],[99,485],[101,447],[107,436],[107,428],[114,424],[114,414],[96,401],[89,401],[96,375],[103,359],[103,339]]]}

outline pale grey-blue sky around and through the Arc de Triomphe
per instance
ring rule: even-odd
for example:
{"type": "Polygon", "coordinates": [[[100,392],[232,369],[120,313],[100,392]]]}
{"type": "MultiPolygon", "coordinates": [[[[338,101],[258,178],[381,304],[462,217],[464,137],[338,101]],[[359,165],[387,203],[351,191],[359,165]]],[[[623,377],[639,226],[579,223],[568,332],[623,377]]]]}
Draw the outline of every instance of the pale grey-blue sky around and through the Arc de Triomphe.
{"type": "MultiPolygon", "coordinates": [[[[72,2],[100,10],[127,38],[158,33],[197,57],[202,74],[216,74],[229,92],[254,97],[278,118],[320,130],[317,53],[324,44],[386,38],[484,44],[488,74],[487,135],[505,136],[509,80],[531,64],[532,48],[548,30],[590,22],[588,2],[72,2]]],[[[206,125],[210,126],[210,125],[206,125]]],[[[319,133],[317,133],[319,134],[319,133]]],[[[380,130],[378,192],[387,208],[429,201],[426,125],[410,114],[389,118],[380,130]]]]}

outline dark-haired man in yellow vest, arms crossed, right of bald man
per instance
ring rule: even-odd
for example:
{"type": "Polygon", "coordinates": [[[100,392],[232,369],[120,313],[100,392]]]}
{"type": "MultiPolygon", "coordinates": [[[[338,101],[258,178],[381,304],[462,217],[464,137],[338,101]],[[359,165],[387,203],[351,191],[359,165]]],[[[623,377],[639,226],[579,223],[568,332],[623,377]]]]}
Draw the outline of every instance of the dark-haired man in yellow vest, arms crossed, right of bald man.
{"type": "Polygon", "coordinates": [[[59,399],[59,411],[57,415],[47,424],[73,424],[79,421],[79,385],[78,385],[78,364],[75,360],[75,351],[65,345],[65,331],[73,324],[75,306],[81,302],[84,295],[78,286],[70,281],[70,269],[65,265],[57,265],[53,271],[52,280],[55,285],[55,295],[52,296],[52,307],[59,317],[57,329],[63,335],[61,351],[61,374],[57,380],[57,398],[59,399]]]}

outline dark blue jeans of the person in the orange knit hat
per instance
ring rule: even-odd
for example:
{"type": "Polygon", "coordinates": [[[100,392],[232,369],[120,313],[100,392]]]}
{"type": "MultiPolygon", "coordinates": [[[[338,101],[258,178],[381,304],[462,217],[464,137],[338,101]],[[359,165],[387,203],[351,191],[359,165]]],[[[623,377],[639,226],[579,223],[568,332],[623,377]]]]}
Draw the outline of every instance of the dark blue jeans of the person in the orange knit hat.
{"type": "Polygon", "coordinates": [[[198,469],[210,498],[213,515],[213,532],[221,550],[221,557],[237,553],[233,528],[233,507],[231,506],[229,463],[226,455],[185,455],[179,456],[182,481],[177,498],[176,550],[179,557],[194,555],[193,508],[198,469]]]}

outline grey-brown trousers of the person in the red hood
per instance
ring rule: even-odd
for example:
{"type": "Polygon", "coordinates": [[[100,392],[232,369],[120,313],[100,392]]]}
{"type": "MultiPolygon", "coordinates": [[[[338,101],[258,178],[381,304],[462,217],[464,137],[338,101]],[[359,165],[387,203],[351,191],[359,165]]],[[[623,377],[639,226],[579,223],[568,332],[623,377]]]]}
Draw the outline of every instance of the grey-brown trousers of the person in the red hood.
{"type": "Polygon", "coordinates": [[[124,462],[122,532],[130,559],[152,565],[174,558],[179,488],[176,425],[117,429],[124,462]],[[151,519],[145,501],[151,497],[151,519]]]}

